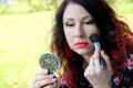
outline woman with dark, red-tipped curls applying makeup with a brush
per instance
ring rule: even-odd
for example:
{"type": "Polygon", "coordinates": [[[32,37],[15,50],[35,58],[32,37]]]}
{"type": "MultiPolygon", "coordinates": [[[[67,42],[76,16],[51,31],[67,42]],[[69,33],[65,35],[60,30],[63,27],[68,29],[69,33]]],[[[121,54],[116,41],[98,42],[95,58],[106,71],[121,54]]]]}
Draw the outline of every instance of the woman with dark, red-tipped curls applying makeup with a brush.
{"type": "MultiPolygon", "coordinates": [[[[133,33],[105,0],[63,0],[55,14],[51,50],[63,69],[60,88],[133,87],[133,33]],[[101,35],[102,51],[90,41],[93,33],[101,35]]],[[[35,74],[31,87],[53,88],[54,82],[44,69],[35,74]]]]}

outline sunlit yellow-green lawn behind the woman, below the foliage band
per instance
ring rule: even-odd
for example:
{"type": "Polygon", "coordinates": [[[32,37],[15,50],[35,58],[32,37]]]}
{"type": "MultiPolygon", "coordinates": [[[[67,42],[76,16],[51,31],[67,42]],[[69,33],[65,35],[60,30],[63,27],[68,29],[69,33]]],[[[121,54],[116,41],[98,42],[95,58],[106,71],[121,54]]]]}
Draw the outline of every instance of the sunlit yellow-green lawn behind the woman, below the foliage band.
{"type": "MultiPolygon", "coordinates": [[[[133,14],[126,16],[133,28],[133,14]]],[[[0,15],[0,88],[29,88],[40,55],[49,51],[52,22],[53,12],[0,15]]]]}

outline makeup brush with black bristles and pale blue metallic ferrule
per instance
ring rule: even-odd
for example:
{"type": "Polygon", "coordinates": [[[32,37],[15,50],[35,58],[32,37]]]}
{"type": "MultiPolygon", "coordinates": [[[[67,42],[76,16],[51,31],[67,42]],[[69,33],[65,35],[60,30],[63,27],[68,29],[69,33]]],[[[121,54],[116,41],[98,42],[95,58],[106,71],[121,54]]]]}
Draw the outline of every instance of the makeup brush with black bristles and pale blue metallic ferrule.
{"type": "MultiPolygon", "coordinates": [[[[99,50],[101,52],[100,35],[95,33],[95,34],[90,35],[89,38],[94,44],[95,50],[99,50]]],[[[101,65],[102,69],[105,69],[105,62],[104,62],[103,57],[101,56],[101,53],[100,53],[100,65],[101,65]]]]}

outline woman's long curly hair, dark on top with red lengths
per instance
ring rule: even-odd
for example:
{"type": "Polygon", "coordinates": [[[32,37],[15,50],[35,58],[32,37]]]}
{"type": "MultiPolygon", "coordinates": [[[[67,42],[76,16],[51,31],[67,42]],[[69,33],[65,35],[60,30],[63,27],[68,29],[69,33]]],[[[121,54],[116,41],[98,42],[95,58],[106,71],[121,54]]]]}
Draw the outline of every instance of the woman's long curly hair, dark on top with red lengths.
{"type": "MultiPolygon", "coordinates": [[[[64,50],[65,35],[62,18],[70,2],[82,6],[92,15],[101,33],[102,48],[111,58],[113,73],[120,74],[123,72],[125,59],[133,53],[133,33],[126,23],[116,18],[115,12],[105,0],[63,0],[55,14],[51,43],[51,50],[60,56],[62,69],[64,70],[61,79],[65,79],[69,88],[79,88],[80,77],[78,74],[84,73],[82,69],[83,57],[73,51],[68,53],[64,50]],[[66,55],[70,53],[72,55],[66,55]]],[[[83,87],[81,86],[81,88],[83,87]]]]}

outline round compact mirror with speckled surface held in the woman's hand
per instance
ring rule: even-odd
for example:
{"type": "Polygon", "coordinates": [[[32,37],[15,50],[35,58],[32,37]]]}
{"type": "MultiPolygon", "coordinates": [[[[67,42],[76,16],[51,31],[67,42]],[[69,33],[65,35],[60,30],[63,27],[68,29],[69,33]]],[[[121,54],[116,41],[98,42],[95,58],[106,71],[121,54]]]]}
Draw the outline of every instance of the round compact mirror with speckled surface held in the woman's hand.
{"type": "Polygon", "coordinates": [[[60,61],[58,56],[51,52],[42,54],[39,63],[42,68],[49,70],[49,74],[53,74],[60,68],[60,61]]]}

